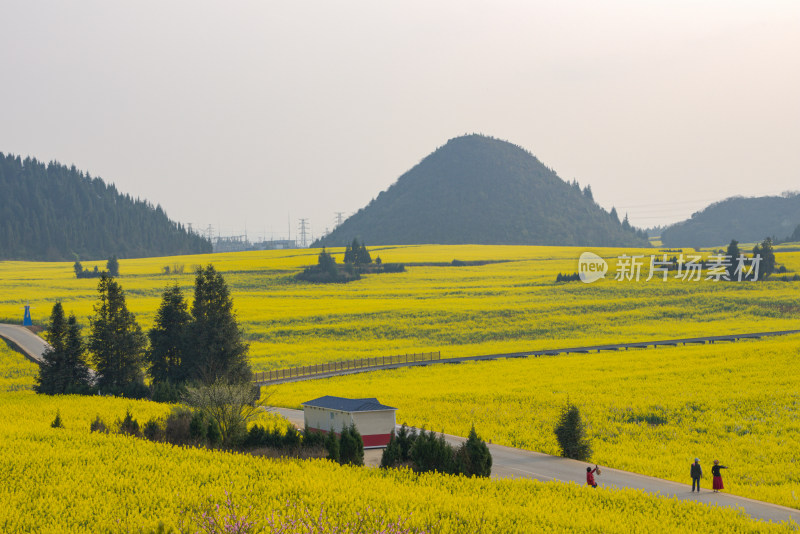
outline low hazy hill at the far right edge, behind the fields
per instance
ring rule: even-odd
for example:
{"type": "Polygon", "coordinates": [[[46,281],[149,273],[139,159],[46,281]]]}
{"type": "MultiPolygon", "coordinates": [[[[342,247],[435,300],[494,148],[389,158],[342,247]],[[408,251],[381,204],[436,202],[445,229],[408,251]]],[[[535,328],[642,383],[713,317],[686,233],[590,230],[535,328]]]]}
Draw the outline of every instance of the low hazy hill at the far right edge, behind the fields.
{"type": "Polygon", "coordinates": [[[711,204],[690,219],[661,232],[666,247],[715,247],[736,239],[786,239],[800,224],[800,194],[780,197],[733,197],[711,204]]]}

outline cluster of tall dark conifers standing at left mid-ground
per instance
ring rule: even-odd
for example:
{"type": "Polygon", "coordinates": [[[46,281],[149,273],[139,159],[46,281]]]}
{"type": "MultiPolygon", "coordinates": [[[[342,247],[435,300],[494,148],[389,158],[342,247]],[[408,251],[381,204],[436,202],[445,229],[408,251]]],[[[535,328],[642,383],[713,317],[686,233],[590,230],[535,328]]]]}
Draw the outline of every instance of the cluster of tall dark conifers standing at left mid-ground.
{"type": "Polygon", "coordinates": [[[213,265],[197,270],[191,310],[177,283],[164,291],[153,328],[146,335],[113,277],[103,274],[97,290],[85,343],[75,315],[66,319],[62,304],[53,306],[45,334],[50,347],[39,367],[37,392],[97,391],[143,397],[150,392],[144,385],[146,371],[153,391],[167,392],[168,398],[157,400],[176,400],[169,391],[190,381],[250,380],[248,345],[242,339],[227,284],[213,265]]]}

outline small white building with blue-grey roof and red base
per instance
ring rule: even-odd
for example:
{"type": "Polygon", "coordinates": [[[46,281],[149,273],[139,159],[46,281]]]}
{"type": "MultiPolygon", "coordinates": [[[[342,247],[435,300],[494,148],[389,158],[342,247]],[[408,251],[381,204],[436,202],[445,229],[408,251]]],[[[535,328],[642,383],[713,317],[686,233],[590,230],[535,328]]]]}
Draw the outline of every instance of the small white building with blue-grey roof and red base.
{"type": "Polygon", "coordinates": [[[341,434],[354,425],[364,448],[385,447],[394,432],[397,408],[385,406],[378,399],[345,399],[326,395],[303,403],[306,428],[314,432],[341,434]]]}

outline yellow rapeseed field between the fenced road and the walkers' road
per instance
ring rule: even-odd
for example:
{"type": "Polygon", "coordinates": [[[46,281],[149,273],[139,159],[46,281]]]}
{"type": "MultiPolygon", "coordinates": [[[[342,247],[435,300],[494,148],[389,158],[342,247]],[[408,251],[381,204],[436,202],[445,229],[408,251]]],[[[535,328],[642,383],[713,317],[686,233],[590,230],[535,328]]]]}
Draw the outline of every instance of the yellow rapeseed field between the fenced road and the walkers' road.
{"type": "Polygon", "coordinates": [[[270,402],[377,397],[398,422],[460,436],[474,424],[494,443],[558,454],[553,428],[569,401],[594,462],[689,483],[695,457],[707,473],[719,459],[725,491],[800,508],[798,376],[794,335],[371,372],[274,386],[270,402]]]}

